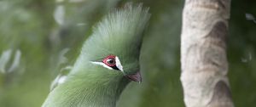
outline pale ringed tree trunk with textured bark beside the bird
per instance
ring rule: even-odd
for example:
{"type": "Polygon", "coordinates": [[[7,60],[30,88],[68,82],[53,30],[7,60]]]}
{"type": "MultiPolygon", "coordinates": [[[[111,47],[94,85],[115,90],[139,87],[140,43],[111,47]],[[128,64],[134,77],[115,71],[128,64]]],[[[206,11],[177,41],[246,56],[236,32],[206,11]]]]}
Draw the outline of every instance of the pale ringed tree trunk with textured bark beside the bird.
{"type": "Polygon", "coordinates": [[[230,0],[186,0],[181,63],[187,107],[233,107],[226,58],[230,0]]]}

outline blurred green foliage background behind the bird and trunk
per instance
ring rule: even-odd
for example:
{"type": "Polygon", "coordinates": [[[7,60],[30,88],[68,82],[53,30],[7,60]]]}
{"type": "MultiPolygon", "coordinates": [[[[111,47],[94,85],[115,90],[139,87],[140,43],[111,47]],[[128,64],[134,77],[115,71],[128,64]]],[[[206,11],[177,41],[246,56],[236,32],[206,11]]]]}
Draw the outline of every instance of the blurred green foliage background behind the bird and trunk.
{"type": "MultiPolygon", "coordinates": [[[[72,66],[91,28],[113,8],[143,3],[152,14],[143,39],[143,83],[118,107],[184,107],[180,33],[184,0],[1,0],[0,107],[39,107],[62,68],[72,66]]],[[[236,107],[256,105],[256,7],[231,3],[228,59],[236,107]]]]}

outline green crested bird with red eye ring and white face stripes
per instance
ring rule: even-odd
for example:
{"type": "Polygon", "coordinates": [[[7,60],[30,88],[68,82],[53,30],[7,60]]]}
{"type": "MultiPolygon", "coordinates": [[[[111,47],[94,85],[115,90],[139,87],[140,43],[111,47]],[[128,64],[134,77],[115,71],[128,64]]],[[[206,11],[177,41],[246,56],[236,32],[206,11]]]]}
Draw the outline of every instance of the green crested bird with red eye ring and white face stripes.
{"type": "Polygon", "coordinates": [[[115,107],[129,82],[142,82],[139,60],[148,9],[126,3],[103,16],[42,107],[115,107]]]}

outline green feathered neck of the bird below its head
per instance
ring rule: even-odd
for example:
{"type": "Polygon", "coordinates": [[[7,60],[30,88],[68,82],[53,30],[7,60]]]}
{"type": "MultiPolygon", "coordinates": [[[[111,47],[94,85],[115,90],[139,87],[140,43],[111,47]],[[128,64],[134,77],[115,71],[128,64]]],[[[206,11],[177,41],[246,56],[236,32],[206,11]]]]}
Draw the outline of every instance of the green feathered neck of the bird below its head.
{"type": "Polygon", "coordinates": [[[66,82],[49,93],[43,107],[115,107],[129,82],[118,71],[78,65],[67,76],[66,82]]]}

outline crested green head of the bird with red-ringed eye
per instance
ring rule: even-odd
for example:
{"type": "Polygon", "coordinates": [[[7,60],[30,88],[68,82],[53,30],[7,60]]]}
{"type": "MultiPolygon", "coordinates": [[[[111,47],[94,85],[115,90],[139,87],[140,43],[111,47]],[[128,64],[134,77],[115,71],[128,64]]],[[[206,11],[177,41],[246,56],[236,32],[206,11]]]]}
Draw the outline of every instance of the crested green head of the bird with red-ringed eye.
{"type": "Polygon", "coordinates": [[[116,72],[141,82],[139,56],[149,17],[148,8],[142,4],[126,4],[125,8],[114,10],[94,26],[92,35],[84,42],[79,62],[88,61],[104,72],[116,72]]]}

